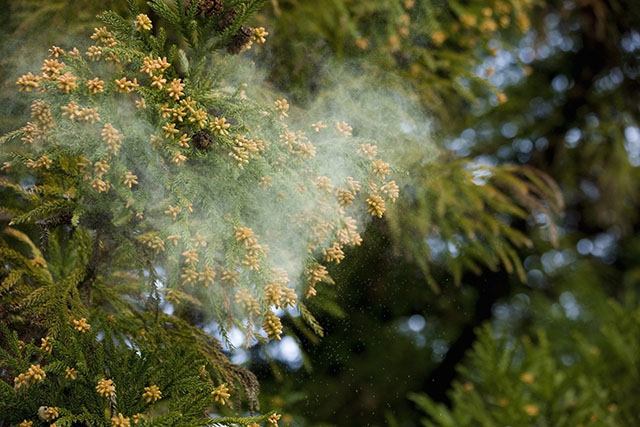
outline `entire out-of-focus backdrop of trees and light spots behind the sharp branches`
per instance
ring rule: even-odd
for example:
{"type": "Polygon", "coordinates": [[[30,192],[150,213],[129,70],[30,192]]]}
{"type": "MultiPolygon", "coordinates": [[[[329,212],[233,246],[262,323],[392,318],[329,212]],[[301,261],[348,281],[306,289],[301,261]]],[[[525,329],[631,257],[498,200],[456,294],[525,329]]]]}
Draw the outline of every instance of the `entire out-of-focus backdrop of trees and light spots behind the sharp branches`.
{"type": "MultiPolygon", "coordinates": [[[[0,134],[30,58],[105,8],[126,1],[0,0],[0,134]]],[[[263,406],[285,425],[640,425],[640,3],[271,0],[255,24],[265,91],[370,119],[353,94],[374,86],[429,129],[397,136],[400,206],[313,300],[325,336],[291,313],[281,342],[232,351],[263,406]]]]}

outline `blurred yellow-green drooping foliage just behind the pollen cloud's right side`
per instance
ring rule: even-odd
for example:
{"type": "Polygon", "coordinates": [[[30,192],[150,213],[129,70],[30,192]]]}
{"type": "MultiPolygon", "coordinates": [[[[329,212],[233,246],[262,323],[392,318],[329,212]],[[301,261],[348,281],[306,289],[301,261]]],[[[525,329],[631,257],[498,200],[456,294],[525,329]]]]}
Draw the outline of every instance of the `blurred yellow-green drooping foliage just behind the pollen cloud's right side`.
{"type": "MultiPolygon", "coordinates": [[[[317,102],[309,92],[327,97],[327,89],[331,98],[337,85],[361,99],[367,87],[349,76],[362,73],[375,76],[373,85],[415,99],[422,108],[419,121],[431,120],[430,137],[403,146],[411,160],[403,163],[410,179],[402,188],[410,197],[400,200],[389,221],[398,247],[420,265],[433,290],[442,282],[434,270],[453,276],[455,283],[465,272],[487,268],[503,268],[524,281],[518,251],[531,246],[523,224],[532,216],[547,218],[547,240],[557,243],[553,222],[563,201],[546,174],[530,167],[480,165],[434,147],[444,148],[443,141],[464,129],[461,123],[501,111],[507,97],[490,83],[496,70],[487,63],[501,52],[515,52],[531,30],[533,8],[534,2],[520,0],[279,0],[261,16],[262,22],[276,23],[271,50],[262,54],[271,64],[270,79],[300,99],[317,102]],[[355,82],[345,84],[345,79],[355,82]]],[[[341,104],[349,102],[345,98],[341,104]]],[[[366,104],[373,106],[363,116],[389,108],[377,108],[376,98],[366,104]]]]}

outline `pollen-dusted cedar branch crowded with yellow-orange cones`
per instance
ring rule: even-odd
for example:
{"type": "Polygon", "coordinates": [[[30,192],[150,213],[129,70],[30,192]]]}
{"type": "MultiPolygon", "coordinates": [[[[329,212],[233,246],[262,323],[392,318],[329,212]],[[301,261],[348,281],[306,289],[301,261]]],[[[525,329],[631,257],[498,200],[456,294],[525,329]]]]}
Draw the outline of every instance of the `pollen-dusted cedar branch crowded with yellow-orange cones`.
{"type": "MultiPolygon", "coordinates": [[[[200,2],[198,13],[226,19],[222,2],[200,2]]],[[[268,338],[279,339],[282,323],[272,310],[295,307],[319,283],[331,283],[325,266],[308,259],[340,263],[345,247],[362,241],[358,212],[380,218],[398,197],[398,186],[387,180],[391,167],[344,121],[333,132],[323,121],[313,123],[313,138],[296,129],[284,98],[270,107],[244,90],[242,96],[221,91],[224,102],[217,104],[199,90],[202,82],[184,78],[174,57],[148,47],[154,27],[147,15],[128,25],[136,31],[96,28],[84,55],[53,46],[40,74],[18,79],[20,91],[38,97],[20,130],[29,148],[23,164],[35,174],[74,164],[73,200],[102,200],[108,215],[137,229],[133,245],[144,248],[139,253],[150,250],[167,272],[166,301],[180,304],[202,286],[219,297],[212,300],[221,301],[217,309],[227,324],[248,320],[248,340],[259,334],[256,317],[268,338]],[[247,103],[260,105],[261,113],[243,111],[247,103]],[[324,164],[332,163],[324,150],[336,144],[355,159],[344,170],[324,164]],[[270,225],[274,215],[287,225],[270,225]],[[280,243],[292,236],[302,243],[297,254],[280,243]],[[281,264],[292,257],[306,265],[281,264]]],[[[262,27],[241,27],[230,48],[264,43],[267,35],[262,27]]],[[[71,322],[80,333],[91,328],[85,318],[71,322]]],[[[76,373],[68,368],[66,376],[76,373]]],[[[17,385],[40,377],[21,378],[17,385]]],[[[114,386],[103,379],[96,390],[108,397],[114,386]]],[[[149,388],[145,399],[160,395],[149,388]]]]}

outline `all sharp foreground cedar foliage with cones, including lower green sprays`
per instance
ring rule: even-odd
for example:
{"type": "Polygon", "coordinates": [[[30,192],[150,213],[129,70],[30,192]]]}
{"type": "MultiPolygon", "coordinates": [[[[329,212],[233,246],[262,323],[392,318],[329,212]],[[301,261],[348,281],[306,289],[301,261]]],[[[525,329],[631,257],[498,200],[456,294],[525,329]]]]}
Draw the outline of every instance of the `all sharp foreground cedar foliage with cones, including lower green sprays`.
{"type": "Polygon", "coordinates": [[[18,79],[33,101],[0,140],[2,421],[277,425],[207,416],[257,410],[258,384],[204,328],[279,340],[275,310],[297,305],[322,334],[299,300],[331,283],[320,262],[359,245],[359,223],[398,186],[357,129],[299,129],[285,99],[257,102],[234,81],[243,63],[228,54],[265,41],[246,25],[261,3],[149,2],[173,43],[132,1],[127,18],[100,16],[84,53],[52,46],[18,79]]]}

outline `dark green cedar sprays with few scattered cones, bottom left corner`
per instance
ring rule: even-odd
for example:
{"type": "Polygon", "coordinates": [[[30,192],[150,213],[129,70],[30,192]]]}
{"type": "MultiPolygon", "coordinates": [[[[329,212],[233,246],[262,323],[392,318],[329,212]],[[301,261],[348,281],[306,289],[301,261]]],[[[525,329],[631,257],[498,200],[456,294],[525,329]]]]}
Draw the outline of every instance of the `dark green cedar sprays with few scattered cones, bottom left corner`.
{"type": "Polygon", "coordinates": [[[92,319],[95,322],[88,332],[65,327],[57,338],[47,338],[42,345],[19,341],[15,331],[3,327],[7,349],[0,350],[3,368],[29,373],[42,367],[44,372],[41,380],[32,379],[16,388],[1,383],[4,421],[37,423],[40,416],[40,421],[55,421],[57,426],[101,426],[118,425],[111,419],[126,414],[123,418],[133,417],[132,423],[139,420],[137,425],[211,423],[202,417],[215,390],[207,371],[198,368],[205,366],[205,360],[152,330],[136,341],[134,349],[115,321],[97,315],[92,319]],[[99,392],[101,381],[109,380],[113,392],[99,392]],[[159,393],[149,394],[154,386],[159,393]],[[56,416],[42,417],[42,407],[55,408],[56,416]]]}

